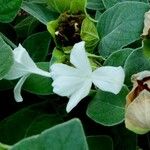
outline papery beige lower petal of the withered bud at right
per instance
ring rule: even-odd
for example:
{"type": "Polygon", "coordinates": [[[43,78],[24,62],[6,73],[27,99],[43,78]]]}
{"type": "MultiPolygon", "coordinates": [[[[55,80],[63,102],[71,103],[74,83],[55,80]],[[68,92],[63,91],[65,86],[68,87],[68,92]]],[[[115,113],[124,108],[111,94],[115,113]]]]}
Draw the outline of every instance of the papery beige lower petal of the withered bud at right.
{"type": "Polygon", "coordinates": [[[150,93],[143,90],[126,107],[125,124],[129,130],[138,134],[150,131],[150,93]]]}

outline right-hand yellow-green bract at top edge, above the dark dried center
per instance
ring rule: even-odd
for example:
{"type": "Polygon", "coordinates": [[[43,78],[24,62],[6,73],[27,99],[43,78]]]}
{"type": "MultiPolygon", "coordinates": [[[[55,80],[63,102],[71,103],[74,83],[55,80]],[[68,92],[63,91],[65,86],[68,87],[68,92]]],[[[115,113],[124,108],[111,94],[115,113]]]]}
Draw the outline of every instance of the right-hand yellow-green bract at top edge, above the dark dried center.
{"type": "Polygon", "coordinates": [[[77,14],[79,12],[84,13],[87,0],[72,0],[70,5],[70,12],[77,14]]]}

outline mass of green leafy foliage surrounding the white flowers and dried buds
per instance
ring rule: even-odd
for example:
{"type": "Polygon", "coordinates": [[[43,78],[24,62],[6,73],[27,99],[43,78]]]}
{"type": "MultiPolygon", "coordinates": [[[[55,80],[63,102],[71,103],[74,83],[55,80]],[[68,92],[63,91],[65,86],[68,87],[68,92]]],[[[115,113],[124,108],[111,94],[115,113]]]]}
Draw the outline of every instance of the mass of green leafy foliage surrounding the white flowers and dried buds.
{"type": "Polygon", "coordinates": [[[24,102],[14,101],[17,80],[3,79],[14,61],[12,50],[21,43],[47,71],[49,62],[68,60],[68,53],[55,47],[47,23],[68,9],[76,13],[84,7],[84,1],[70,2],[0,0],[0,150],[150,149],[148,134],[137,136],[124,125],[125,98],[132,88],[130,77],[150,70],[141,39],[144,13],[150,9],[147,0],[88,0],[86,4],[85,14],[94,23],[85,20],[88,25],[84,24],[81,36],[92,41],[88,48],[102,56],[104,66],[124,67],[126,85],[118,95],[93,91],[67,114],[68,99],[53,94],[52,80],[30,75],[23,86],[24,102]]]}

